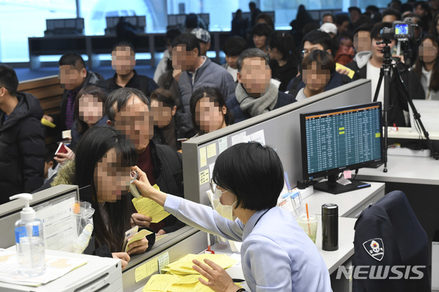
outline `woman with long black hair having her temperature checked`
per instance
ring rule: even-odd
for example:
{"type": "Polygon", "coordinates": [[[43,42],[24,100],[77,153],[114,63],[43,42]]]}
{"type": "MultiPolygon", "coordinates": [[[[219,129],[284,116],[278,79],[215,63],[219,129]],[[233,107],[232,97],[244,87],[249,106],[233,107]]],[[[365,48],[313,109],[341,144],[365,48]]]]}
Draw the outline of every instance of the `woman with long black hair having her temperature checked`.
{"type": "Polygon", "coordinates": [[[130,254],[141,254],[150,249],[155,234],[130,245],[128,253],[122,250],[124,233],[132,228],[132,203],[128,194],[130,167],[137,163],[137,151],[126,143],[116,130],[108,126],[91,127],[76,147],[75,160],[66,162],[51,186],[76,184],[89,186],[80,199],[90,202],[93,214],[93,237],[99,256],[120,258],[122,267],[130,254]]]}

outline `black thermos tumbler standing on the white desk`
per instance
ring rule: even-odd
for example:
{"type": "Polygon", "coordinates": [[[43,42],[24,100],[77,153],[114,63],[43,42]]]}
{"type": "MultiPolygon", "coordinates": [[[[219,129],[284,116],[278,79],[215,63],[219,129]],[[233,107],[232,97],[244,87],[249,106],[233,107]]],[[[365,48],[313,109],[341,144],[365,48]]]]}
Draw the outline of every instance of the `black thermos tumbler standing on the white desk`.
{"type": "Polygon", "coordinates": [[[338,250],[338,206],[322,205],[322,250],[338,250]]]}

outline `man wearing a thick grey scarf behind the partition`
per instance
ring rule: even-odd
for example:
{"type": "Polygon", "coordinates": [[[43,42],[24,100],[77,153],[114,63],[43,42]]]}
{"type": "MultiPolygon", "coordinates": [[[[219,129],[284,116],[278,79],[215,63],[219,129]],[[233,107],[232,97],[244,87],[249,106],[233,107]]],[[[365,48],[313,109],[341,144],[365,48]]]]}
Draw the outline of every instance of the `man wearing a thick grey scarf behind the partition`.
{"type": "Polygon", "coordinates": [[[226,101],[235,123],[256,117],[296,101],[270,82],[270,58],[260,49],[247,49],[237,60],[239,84],[235,96],[226,101]]]}

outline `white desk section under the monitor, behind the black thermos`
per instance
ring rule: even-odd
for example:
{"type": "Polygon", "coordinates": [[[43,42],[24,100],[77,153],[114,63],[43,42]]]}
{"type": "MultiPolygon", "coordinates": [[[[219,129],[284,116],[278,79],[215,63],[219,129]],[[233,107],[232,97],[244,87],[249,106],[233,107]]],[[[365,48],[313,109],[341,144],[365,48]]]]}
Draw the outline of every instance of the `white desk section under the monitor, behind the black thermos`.
{"type": "Polygon", "coordinates": [[[362,206],[366,207],[368,204],[375,203],[379,198],[383,197],[384,186],[385,184],[381,182],[370,182],[370,187],[368,188],[361,188],[338,195],[314,190],[314,193],[306,197],[303,202],[308,204],[309,212],[312,214],[322,215],[322,205],[333,203],[337,204],[340,217],[353,217],[353,213],[357,215],[357,213],[361,212],[362,206]]]}

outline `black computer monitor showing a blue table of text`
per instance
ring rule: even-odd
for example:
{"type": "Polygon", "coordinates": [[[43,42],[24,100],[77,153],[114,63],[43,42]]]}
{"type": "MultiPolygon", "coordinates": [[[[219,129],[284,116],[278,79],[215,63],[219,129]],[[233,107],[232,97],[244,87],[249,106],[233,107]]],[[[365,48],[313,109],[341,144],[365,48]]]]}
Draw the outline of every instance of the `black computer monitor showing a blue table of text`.
{"type": "Polygon", "coordinates": [[[370,186],[355,180],[343,185],[337,175],[381,162],[381,123],[380,102],[300,114],[303,178],[327,176],[314,188],[333,194],[370,186]]]}

